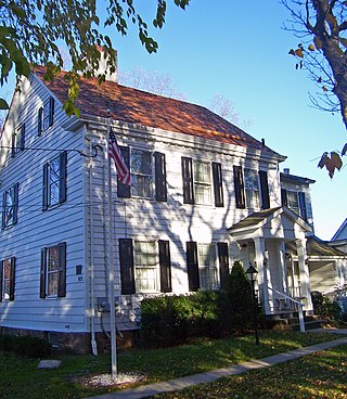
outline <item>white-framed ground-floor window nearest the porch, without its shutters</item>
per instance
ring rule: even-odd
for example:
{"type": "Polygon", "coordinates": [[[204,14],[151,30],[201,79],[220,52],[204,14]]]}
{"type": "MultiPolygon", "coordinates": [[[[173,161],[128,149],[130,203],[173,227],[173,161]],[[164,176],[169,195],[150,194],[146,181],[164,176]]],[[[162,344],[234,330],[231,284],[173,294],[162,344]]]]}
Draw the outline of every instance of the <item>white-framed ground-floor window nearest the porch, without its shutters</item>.
{"type": "Polygon", "coordinates": [[[218,289],[218,254],[216,243],[198,243],[198,278],[201,289],[218,289]],[[206,262],[207,259],[207,262],[206,262]]]}

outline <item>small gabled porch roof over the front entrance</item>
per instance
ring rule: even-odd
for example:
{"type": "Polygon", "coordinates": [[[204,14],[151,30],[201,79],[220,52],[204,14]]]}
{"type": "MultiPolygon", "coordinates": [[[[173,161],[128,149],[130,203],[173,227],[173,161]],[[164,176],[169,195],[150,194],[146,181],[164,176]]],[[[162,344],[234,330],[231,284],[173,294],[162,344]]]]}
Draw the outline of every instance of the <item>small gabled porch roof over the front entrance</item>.
{"type": "Polygon", "coordinates": [[[294,211],[285,206],[278,206],[248,215],[229,228],[228,232],[237,240],[255,236],[294,240],[311,230],[294,211]]]}

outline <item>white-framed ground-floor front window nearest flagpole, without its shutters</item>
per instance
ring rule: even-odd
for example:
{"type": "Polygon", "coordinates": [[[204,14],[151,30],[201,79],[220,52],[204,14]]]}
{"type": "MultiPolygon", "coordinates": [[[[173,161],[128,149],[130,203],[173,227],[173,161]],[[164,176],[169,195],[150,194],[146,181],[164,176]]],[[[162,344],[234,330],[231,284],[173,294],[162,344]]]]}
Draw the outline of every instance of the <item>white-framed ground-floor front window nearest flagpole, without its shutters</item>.
{"type": "Polygon", "coordinates": [[[159,265],[158,265],[158,247],[156,241],[134,240],[134,273],[136,273],[136,292],[137,293],[158,293],[159,292],[159,265]],[[152,284],[144,286],[144,275],[150,275],[147,281],[152,284]],[[152,276],[151,276],[152,274],[152,276]]]}

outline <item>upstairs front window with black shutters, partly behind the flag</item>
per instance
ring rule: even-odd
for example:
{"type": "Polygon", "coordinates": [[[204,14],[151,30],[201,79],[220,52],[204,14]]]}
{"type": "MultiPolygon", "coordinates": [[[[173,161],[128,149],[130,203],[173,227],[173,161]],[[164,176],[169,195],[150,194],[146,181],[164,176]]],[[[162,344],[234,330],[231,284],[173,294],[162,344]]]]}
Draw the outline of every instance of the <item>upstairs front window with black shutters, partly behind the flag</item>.
{"type": "Polygon", "coordinates": [[[124,160],[130,167],[131,188],[117,182],[118,197],[167,201],[165,154],[119,146],[124,160]]]}

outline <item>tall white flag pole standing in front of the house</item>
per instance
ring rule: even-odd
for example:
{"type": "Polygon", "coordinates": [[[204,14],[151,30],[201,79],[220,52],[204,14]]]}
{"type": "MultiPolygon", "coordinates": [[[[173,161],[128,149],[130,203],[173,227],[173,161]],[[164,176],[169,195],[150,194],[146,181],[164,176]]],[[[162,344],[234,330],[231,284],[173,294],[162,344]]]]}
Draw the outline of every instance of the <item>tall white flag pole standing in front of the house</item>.
{"type": "Polygon", "coordinates": [[[108,153],[108,140],[111,131],[110,111],[107,110],[107,198],[108,198],[108,303],[110,303],[110,329],[111,329],[111,374],[115,378],[117,375],[117,347],[116,347],[116,314],[115,314],[115,272],[113,257],[113,201],[112,201],[112,173],[111,173],[111,157],[108,153]]]}

